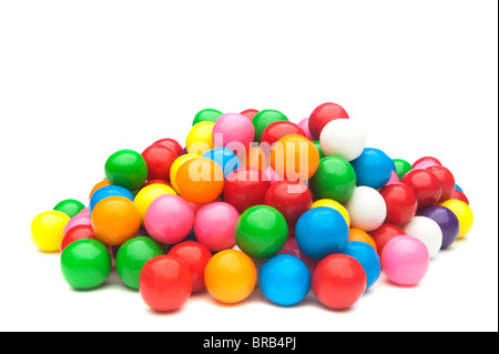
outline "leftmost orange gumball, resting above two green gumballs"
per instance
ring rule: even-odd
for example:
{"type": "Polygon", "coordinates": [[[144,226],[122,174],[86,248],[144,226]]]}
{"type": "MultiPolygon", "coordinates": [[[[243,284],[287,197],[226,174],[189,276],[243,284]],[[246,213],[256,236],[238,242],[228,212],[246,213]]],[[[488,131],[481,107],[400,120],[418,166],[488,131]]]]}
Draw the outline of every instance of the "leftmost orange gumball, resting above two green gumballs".
{"type": "Polygon", "coordinates": [[[141,214],[130,199],[109,196],[95,204],[91,222],[99,241],[111,246],[120,245],[136,235],[141,214]]]}

